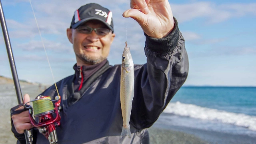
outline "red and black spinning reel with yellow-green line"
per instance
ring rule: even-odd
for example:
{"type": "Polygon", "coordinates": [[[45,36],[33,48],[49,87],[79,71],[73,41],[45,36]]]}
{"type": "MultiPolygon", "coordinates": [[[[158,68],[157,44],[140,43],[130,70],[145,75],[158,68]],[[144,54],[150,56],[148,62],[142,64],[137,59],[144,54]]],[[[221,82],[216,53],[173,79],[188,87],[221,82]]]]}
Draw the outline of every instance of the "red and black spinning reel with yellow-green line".
{"type": "Polygon", "coordinates": [[[49,140],[50,144],[57,144],[56,126],[60,126],[60,96],[56,96],[55,100],[51,100],[50,96],[38,96],[30,102],[33,108],[26,105],[28,102],[24,106],[29,110],[31,123],[49,140]]]}

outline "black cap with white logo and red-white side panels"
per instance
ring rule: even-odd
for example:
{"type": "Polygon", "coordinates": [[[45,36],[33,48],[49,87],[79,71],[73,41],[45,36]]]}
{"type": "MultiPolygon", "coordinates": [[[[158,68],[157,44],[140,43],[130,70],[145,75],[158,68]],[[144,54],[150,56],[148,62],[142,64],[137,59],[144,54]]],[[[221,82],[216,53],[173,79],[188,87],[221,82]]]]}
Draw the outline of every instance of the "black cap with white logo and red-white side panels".
{"type": "Polygon", "coordinates": [[[99,20],[114,32],[112,12],[99,4],[86,4],[74,12],[70,28],[76,29],[88,20],[99,20]]]}

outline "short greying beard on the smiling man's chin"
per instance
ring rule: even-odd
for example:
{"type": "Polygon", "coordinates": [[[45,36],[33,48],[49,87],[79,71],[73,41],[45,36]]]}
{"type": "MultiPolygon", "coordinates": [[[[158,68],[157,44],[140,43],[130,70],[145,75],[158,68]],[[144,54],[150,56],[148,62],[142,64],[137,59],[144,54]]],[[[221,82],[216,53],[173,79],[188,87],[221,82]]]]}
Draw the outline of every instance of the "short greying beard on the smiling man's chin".
{"type": "Polygon", "coordinates": [[[76,54],[76,56],[82,60],[84,63],[86,64],[98,64],[100,62],[102,62],[103,60],[105,60],[106,58],[104,58],[103,56],[99,56],[99,57],[94,57],[94,56],[86,56],[85,54],[76,54]]]}

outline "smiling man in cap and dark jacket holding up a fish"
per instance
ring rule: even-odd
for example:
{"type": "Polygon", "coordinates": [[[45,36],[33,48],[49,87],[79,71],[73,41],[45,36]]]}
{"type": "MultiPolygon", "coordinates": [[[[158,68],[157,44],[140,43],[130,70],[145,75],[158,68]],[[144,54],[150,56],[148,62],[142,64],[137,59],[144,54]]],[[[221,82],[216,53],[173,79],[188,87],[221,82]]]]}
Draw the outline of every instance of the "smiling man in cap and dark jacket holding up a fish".
{"type": "MultiPolygon", "coordinates": [[[[98,4],[87,4],[76,10],[67,29],[77,63],[74,75],[56,83],[62,98],[61,124],[56,129],[58,144],[148,144],[146,128],[152,126],[185,82],[188,57],[168,0],[131,0],[131,8],[123,16],[133,18],[142,27],[147,56],[146,64],[134,66],[131,139],[120,136],[121,65],[110,66],[107,61],[115,37],[112,12],[98,4]]],[[[41,95],[53,99],[57,95],[55,86],[41,95]]],[[[26,94],[24,102],[29,100],[26,94]]],[[[17,143],[24,143],[24,130],[33,127],[28,115],[24,111],[12,116],[17,143]]],[[[48,143],[37,130],[34,140],[37,144],[48,143]]]]}

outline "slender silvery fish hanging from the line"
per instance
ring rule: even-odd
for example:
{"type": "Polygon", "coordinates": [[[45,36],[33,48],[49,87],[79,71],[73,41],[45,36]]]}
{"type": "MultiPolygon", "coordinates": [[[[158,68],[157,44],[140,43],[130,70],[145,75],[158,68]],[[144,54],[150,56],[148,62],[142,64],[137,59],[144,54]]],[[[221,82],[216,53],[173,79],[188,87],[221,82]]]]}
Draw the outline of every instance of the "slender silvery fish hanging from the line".
{"type": "Polygon", "coordinates": [[[122,55],[121,78],[120,78],[120,102],[123,116],[123,127],[121,138],[128,136],[131,139],[130,116],[132,111],[132,100],[134,96],[134,64],[130,48],[125,42],[122,55]]]}

